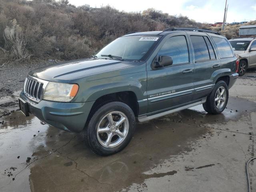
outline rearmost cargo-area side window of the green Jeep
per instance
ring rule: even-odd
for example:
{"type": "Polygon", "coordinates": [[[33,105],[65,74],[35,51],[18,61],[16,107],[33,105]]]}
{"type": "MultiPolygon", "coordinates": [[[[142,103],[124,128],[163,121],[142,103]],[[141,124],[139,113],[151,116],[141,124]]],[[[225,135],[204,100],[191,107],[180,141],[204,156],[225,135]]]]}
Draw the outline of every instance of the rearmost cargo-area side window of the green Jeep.
{"type": "Polygon", "coordinates": [[[220,54],[220,58],[234,57],[228,41],[224,38],[212,37],[220,54]]]}

